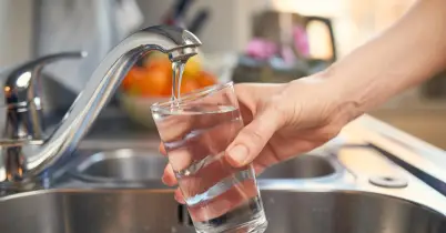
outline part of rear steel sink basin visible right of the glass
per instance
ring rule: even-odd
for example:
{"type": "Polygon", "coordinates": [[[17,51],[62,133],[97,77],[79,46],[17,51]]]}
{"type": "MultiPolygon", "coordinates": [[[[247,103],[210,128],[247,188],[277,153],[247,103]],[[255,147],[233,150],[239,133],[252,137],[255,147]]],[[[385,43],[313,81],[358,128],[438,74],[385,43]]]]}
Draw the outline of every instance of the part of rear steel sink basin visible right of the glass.
{"type": "Polygon", "coordinates": [[[322,156],[304,154],[266,169],[261,179],[307,179],[333,174],[335,169],[322,156]]]}

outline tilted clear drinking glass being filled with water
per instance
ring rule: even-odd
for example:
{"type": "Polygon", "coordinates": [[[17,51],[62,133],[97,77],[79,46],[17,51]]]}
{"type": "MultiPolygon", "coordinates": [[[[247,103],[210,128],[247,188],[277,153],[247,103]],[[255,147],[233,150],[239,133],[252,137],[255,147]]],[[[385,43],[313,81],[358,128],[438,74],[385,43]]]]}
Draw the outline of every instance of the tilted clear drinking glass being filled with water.
{"type": "Polygon", "coordinates": [[[233,83],[151,109],[196,232],[264,232],[267,222],[252,165],[233,168],[224,156],[243,128],[233,83]]]}

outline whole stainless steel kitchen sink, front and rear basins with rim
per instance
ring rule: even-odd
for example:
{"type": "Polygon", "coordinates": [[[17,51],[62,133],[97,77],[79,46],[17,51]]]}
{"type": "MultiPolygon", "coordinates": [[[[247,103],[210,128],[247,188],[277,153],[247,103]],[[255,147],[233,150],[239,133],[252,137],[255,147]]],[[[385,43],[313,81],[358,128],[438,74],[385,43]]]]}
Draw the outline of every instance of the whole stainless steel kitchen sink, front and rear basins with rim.
{"type": "MultiPolygon", "coordinates": [[[[82,143],[69,173],[50,190],[0,197],[0,232],[194,232],[186,209],[160,181],[168,161],[158,138],[105,134],[112,138],[82,143]]],[[[379,153],[341,150],[317,150],[260,176],[267,233],[446,232],[444,195],[379,153]]]]}

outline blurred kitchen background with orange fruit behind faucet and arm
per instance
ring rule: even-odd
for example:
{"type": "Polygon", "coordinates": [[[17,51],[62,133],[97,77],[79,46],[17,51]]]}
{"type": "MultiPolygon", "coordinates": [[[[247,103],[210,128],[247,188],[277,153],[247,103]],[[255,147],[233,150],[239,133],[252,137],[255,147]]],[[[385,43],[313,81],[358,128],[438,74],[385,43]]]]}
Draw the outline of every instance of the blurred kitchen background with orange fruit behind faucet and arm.
{"type": "MultiPolygon", "coordinates": [[[[133,31],[176,24],[203,42],[182,92],[216,82],[286,82],[325,69],[385,29],[412,0],[1,0],[0,71],[42,55],[87,51],[49,64],[48,111],[65,111],[107,52],[133,31]]],[[[162,54],[138,62],[111,102],[135,122],[169,98],[162,54]],[[145,108],[146,109],[146,108],[145,108]]],[[[372,115],[446,149],[446,74],[392,99],[372,115]]],[[[146,125],[149,126],[149,125],[146,125]]]]}

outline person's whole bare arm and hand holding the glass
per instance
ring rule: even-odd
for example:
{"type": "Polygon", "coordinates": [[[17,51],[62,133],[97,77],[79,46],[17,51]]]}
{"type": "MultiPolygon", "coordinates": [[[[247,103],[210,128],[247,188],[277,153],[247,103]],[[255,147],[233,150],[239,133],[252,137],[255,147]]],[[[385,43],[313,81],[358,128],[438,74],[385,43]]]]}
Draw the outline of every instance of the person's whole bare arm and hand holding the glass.
{"type": "MultiPolygon", "coordinates": [[[[225,158],[234,168],[253,163],[260,173],[333,139],[349,121],[445,64],[446,2],[419,0],[394,26],[321,73],[285,84],[237,84],[246,126],[225,158]]],[[[176,184],[170,165],[163,181],[176,184]]],[[[181,202],[181,192],[175,197],[181,202]]]]}

